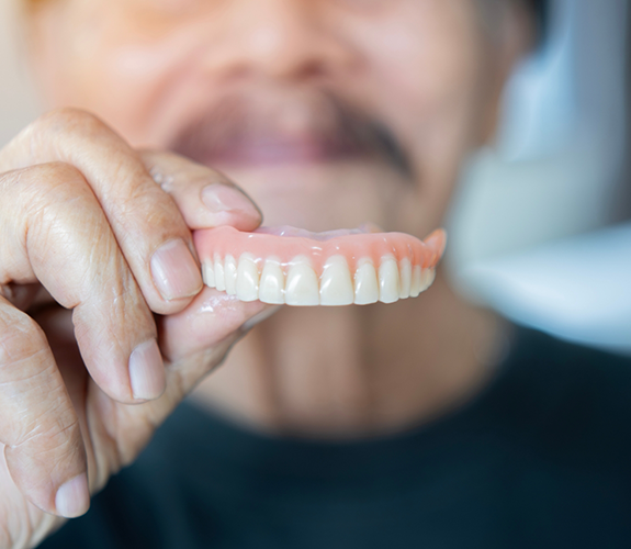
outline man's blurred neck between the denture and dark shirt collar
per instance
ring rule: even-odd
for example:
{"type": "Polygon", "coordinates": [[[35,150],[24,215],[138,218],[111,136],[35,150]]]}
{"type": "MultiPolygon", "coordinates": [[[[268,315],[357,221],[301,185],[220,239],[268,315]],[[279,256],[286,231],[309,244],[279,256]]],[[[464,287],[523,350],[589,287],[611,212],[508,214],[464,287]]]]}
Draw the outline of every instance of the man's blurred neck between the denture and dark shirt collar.
{"type": "Polygon", "coordinates": [[[257,429],[349,438],[448,412],[493,374],[502,324],[442,277],[395,304],[283,307],[253,328],[194,399],[257,429]]]}

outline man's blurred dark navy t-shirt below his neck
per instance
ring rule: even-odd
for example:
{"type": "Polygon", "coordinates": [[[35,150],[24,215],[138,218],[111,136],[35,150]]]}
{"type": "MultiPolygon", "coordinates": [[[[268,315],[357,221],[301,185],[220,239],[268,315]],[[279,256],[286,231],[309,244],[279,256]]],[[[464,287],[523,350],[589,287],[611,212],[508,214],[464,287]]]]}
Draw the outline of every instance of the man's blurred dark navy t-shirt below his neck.
{"type": "Polygon", "coordinates": [[[631,360],[518,329],[405,434],[270,438],[183,404],[53,548],[629,548],[631,360]]]}

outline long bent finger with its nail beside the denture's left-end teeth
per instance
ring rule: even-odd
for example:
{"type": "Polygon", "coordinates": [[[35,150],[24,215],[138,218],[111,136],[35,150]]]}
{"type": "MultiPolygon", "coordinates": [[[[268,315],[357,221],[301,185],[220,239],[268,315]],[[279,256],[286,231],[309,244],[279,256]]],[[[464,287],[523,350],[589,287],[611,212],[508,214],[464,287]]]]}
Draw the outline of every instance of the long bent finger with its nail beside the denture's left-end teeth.
{"type": "Polygon", "coordinates": [[[55,161],[86,178],[149,307],[181,311],[203,285],[191,233],[139,155],[95,116],[63,109],[38,119],[0,153],[0,172],[55,161]]]}

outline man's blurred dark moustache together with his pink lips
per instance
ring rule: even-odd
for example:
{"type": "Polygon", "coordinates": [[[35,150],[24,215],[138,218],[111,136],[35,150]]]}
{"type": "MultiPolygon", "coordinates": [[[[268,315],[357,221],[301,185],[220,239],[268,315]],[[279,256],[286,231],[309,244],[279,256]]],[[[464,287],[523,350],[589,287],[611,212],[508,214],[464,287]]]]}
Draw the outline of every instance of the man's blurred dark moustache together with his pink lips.
{"type": "Polygon", "coordinates": [[[240,90],[227,94],[170,147],[209,166],[264,167],[373,159],[402,169],[384,124],[323,90],[240,90]]]}

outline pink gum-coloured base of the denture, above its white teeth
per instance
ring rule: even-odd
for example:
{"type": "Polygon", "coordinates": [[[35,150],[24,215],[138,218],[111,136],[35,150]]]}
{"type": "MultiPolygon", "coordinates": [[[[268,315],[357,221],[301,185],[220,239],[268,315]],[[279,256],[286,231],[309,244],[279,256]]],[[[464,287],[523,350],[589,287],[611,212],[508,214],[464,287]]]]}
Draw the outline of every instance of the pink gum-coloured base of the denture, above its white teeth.
{"type": "Polygon", "coordinates": [[[440,260],[447,242],[444,231],[437,229],[425,240],[404,233],[365,233],[335,236],[326,240],[303,236],[279,236],[268,233],[244,233],[234,227],[223,226],[195,231],[195,248],[203,261],[233,256],[239,259],[241,254],[251,254],[257,262],[274,257],[282,265],[291,265],[303,256],[309,259],[316,273],[322,274],[325,261],[341,255],[351,269],[358,268],[358,261],[372,259],[379,266],[383,257],[393,256],[397,261],[409,259],[413,266],[433,268],[440,260]]]}

